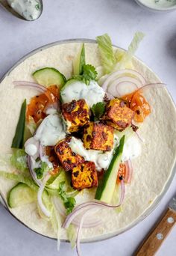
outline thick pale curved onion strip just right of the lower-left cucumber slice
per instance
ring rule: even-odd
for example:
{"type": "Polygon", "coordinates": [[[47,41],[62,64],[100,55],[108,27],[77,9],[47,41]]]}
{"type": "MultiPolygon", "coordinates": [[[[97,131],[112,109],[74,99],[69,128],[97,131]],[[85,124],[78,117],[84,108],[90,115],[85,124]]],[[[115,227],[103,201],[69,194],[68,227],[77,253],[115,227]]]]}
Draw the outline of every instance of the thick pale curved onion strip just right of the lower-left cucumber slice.
{"type": "Polygon", "coordinates": [[[46,217],[50,217],[51,216],[51,212],[45,207],[45,205],[43,204],[43,190],[45,189],[45,183],[47,182],[47,180],[51,177],[50,174],[46,174],[42,184],[40,185],[40,188],[37,192],[37,201],[38,204],[40,206],[40,210],[42,210],[43,214],[45,214],[46,217]]]}

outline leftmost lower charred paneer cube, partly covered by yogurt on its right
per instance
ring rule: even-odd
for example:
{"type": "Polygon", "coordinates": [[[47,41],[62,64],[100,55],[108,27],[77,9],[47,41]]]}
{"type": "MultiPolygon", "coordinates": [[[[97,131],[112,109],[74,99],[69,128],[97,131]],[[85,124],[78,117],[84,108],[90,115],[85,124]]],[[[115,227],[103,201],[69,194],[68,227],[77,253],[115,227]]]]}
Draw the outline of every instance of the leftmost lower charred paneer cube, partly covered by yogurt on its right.
{"type": "Polygon", "coordinates": [[[65,171],[71,171],[72,168],[84,162],[83,156],[72,152],[72,149],[69,147],[70,140],[71,137],[65,138],[62,141],[59,141],[54,148],[65,171]]]}

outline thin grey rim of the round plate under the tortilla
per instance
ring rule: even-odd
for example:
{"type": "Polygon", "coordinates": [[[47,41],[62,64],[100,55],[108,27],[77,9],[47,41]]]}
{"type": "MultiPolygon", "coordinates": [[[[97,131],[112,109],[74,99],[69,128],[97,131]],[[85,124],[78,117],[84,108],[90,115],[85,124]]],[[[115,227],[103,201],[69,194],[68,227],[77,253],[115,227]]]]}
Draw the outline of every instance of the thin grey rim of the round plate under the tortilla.
{"type": "MultiPolygon", "coordinates": [[[[0,83],[4,80],[4,78],[6,76],[9,76],[10,72],[12,70],[14,70],[19,64],[22,63],[22,61],[25,61],[25,59],[31,57],[32,55],[36,54],[37,52],[40,52],[40,51],[43,51],[44,49],[48,49],[52,46],[57,46],[57,45],[60,45],[60,44],[64,44],[64,43],[97,43],[96,40],[93,40],[93,39],[87,39],[87,38],[73,38],[73,39],[66,39],[66,40],[57,40],[57,41],[54,41],[52,43],[48,43],[48,44],[45,44],[43,46],[40,46],[38,47],[37,49],[34,49],[32,50],[31,52],[28,52],[26,55],[24,55],[22,58],[19,58],[18,61],[15,62],[15,64],[13,64],[12,67],[10,67],[9,70],[7,70],[6,73],[4,73],[3,76],[1,76],[1,79],[0,79],[0,83]]],[[[119,48],[119,49],[122,49],[124,51],[126,51],[125,49],[123,49],[122,47],[119,47],[119,46],[116,46],[113,44],[113,47],[116,47],[116,48],[119,48]]],[[[133,58],[136,58],[140,63],[144,64],[145,67],[148,68],[148,70],[151,70],[150,67],[148,67],[148,65],[146,65],[143,61],[141,61],[139,58],[137,58],[136,56],[133,56],[133,58]]],[[[152,73],[154,73],[153,70],[151,70],[152,73]]],[[[157,79],[160,80],[160,78],[156,75],[156,73],[154,73],[155,76],[157,77],[157,79]]],[[[168,91],[168,89],[166,89],[168,91]]],[[[168,91],[169,93],[169,91],[168,91]]],[[[175,102],[171,96],[171,94],[169,93],[169,96],[171,97],[171,100],[172,100],[172,103],[174,104],[175,106],[175,102]]],[[[175,109],[176,109],[176,106],[175,106],[175,109]]],[[[172,180],[174,179],[175,175],[176,175],[176,159],[175,159],[175,162],[172,166],[172,171],[171,171],[171,174],[163,188],[163,191],[160,193],[160,195],[157,196],[157,198],[154,199],[154,202],[153,204],[151,204],[150,207],[148,207],[143,213],[141,216],[139,216],[134,222],[132,222],[130,225],[128,225],[127,227],[125,228],[122,228],[120,231],[115,231],[113,233],[108,233],[108,234],[103,234],[103,235],[100,235],[98,237],[92,237],[92,238],[89,238],[89,239],[83,239],[81,240],[81,243],[95,243],[95,242],[101,242],[103,240],[107,240],[107,239],[110,239],[110,238],[113,238],[113,237],[116,237],[118,236],[119,234],[122,234],[124,233],[125,231],[129,231],[131,230],[131,228],[133,228],[134,226],[136,226],[137,224],[139,224],[139,222],[142,222],[143,219],[145,219],[147,216],[149,216],[157,207],[158,205],[160,204],[160,201],[162,200],[163,196],[166,194],[166,192],[168,191],[171,183],[172,183],[172,180]]],[[[22,222],[22,220],[18,219],[7,207],[7,204],[6,204],[6,201],[4,200],[3,198],[3,195],[1,195],[1,191],[0,191],[0,204],[2,204],[2,206],[7,210],[8,213],[10,213],[10,215],[12,215],[18,222],[20,222],[22,225],[24,225],[26,228],[30,229],[31,231],[37,233],[37,234],[40,234],[39,232],[37,231],[34,231],[32,228],[28,227],[28,225],[26,225],[24,222],[22,222]],[[4,202],[4,204],[3,204],[4,202]]],[[[47,235],[43,235],[43,234],[40,234],[41,236],[43,237],[47,237],[47,238],[50,238],[52,240],[57,240],[56,238],[54,237],[48,237],[47,235]]],[[[66,242],[66,243],[69,243],[69,240],[61,240],[61,242],[66,242]]]]}

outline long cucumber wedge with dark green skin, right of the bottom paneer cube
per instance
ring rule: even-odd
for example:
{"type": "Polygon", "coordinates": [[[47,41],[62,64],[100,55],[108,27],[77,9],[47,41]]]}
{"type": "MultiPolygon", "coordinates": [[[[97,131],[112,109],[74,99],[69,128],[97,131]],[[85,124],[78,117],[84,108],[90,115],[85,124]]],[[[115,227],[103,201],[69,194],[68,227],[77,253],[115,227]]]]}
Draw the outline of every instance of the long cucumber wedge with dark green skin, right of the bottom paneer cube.
{"type": "Polygon", "coordinates": [[[113,198],[113,192],[116,187],[116,177],[119,171],[119,164],[122,159],[122,152],[125,142],[125,135],[121,138],[119,147],[116,148],[110,166],[105,171],[102,182],[98,185],[95,199],[110,203],[113,198]]]}

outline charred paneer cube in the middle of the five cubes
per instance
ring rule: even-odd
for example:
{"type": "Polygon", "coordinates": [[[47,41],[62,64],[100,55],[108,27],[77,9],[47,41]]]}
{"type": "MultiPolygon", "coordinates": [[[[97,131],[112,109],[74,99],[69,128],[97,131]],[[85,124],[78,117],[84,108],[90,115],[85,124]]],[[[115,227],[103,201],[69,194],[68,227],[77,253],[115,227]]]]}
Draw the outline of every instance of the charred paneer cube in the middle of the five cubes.
{"type": "Polygon", "coordinates": [[[84,147],[110,151],[113,147],[113,130],[109,125],[90,122],[84,128],[84,147]]]}

